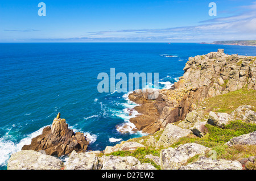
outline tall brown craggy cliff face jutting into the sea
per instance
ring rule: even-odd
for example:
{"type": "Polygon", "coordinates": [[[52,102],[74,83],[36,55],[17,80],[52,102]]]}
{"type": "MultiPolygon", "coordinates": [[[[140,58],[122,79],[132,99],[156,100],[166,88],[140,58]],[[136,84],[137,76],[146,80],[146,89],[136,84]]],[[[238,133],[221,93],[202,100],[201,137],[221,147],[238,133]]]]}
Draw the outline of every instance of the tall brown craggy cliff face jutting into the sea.
{"type": "Polygon", "coordinates": [[[130,119],[139,131],[154,133],[168,123],[184,120],[196,103],[242,88],[256,90],[256,57],[210,52],[189,57],[184,75],[172,89],[159,90],[159,96],[133,92],[129,99],[141,104],[134,109],[141,113],[130,119]]]}

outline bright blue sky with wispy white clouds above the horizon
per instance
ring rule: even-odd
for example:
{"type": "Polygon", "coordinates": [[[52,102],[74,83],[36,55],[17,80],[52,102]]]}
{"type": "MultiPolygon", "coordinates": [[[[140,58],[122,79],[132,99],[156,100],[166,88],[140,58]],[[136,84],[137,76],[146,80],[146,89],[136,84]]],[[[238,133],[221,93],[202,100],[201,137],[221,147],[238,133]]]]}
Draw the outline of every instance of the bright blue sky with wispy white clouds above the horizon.
{"type": "Polygon", "coordinates": [[[256,1],[1,0],[0,24],[0,42],[255,40],[256,1]]]}

